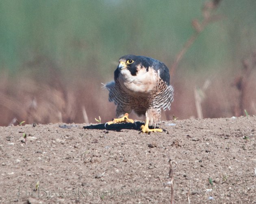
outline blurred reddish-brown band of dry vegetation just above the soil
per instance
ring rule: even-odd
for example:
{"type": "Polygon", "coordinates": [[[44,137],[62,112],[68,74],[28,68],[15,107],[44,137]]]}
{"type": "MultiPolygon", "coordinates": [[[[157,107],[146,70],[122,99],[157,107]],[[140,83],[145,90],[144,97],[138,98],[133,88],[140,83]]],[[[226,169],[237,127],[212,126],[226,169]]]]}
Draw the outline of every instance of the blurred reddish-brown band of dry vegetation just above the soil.
{"type": "MultiPolygon", "coordinates": [[[[250,115],[256,114],[255,56],[245,60],[248,64],[245,67],[241,62],[241,70],[237,73],[226,69],[211,76],[186,75],[177,70],[171,79],[175,88],[174,102],[171,110],[163,113],[163,119],[171,120],[173,115],[178,119],[199,117],[195,91],[199,93],[204,118],[245,115],[244,109],[250,115]],[[246,75],[244,72],[248,70],[249,74],[246,75]]],[[[108,102],[108,91],[101,84],[106,83],[106,79],[97,75],[85,76],[83,73],[73,73],[69,79],[56,68],[52,69],[53,65],[47,59],[41,60],[37,63],[46,63],[48,67],[43,74],[21,72],[11,76],[7,71],[1,72],[0,125],[9,125],[15,118],[26,123],[96,123],[98,116],[102,122],[115,117],[115,105],[108,102]]],[[[165,63],[167,66],[171,64],[165,63]]],[[[131,117],[143,119],[134,114],[131,117]]]]}

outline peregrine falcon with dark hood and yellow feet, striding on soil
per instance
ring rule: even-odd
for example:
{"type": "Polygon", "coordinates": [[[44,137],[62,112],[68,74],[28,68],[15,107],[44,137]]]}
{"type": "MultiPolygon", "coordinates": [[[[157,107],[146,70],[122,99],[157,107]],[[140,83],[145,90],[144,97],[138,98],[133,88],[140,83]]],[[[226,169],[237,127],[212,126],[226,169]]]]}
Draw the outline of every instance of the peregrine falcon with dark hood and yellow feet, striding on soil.
{"type": "Polygon", "coordinates": [[[106,124],[134,123],[128,118],[134,110],[137,115],[146,116],[145,125],[141,125],[142,132],[163,132],[148,126],[156,126],[161,121],[161,109],[170,110],[173,101],[174,89],[165,64],[150,57],[125,55],[119,59],[114,79],[106,84],[106,88],[109,91],[108,100],[117,105],[117,119],[106,124]]]}

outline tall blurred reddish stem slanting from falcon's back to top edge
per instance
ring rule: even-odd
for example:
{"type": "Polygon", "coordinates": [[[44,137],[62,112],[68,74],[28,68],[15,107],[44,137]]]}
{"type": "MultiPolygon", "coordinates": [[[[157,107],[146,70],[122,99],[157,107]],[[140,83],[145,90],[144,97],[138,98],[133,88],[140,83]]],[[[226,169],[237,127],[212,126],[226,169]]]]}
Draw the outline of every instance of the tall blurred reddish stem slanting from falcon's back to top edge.
{"type": "Polygon", "coordinates": [[[216,0],[213,0],[212,2],[210,2],[210,3],[212,3],[211,7],[209,6],[209,3],[204,5],[202,12],[206,13],[206,15],[204,15],[204,19],[201,22],[201,24],[199,24],[199,22],[196,19],[192,22],[192,25],[195,28],[195,33],[189,38],[189,40],[184,45],[184,47],[182,48],[180,53],[178,53],[178,55],[176,55],[175,61],[171,66],[171,71],[170,71],[171,77],[174,75],[174,72],[178,66],[178,63],[180,62],[180,60],[182,59],[184,54],[187,52],[189,47],[195,42],[196,38],[203,32],[204,28],[208,25],[208,23],[215,20],[214,16],[210,14],[210,11],[214,11],[215,8],[217,8],[220,1],[221,0],[216,2],[216,0]]]}

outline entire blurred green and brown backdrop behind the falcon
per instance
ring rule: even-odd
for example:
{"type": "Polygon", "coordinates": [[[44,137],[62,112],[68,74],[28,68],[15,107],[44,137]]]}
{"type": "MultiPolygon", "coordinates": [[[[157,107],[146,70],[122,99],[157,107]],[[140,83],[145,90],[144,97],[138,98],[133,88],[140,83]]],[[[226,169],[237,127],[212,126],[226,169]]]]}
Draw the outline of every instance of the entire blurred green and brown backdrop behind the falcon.
{"type": "MultiPolygon", "coordinates": [[[[113,1],[112,4],[45,1],[39,7],[27,0],[18,2],[28,16],[16,12],[20,7],[14,0],[0,2],[2,13],[6,11],[4,8],[10,8],[17,14],[16,19],[10,18],[8,12],[2,14],[6,17],[3,22],[11,26],[4,30],[5,37],[0,38],[3,45],[0,60],[4,59],[0,63],[0,125],[17,125],[21,121],[96,123],[95,118],[99,116],[101,122],[111,120],[115,117],[115,105],[108,102],[108,91],[101,83],[113,80],[117,60],[124,54],[147,55],[170,68],[174,102],[171,110],[163,112],[163,120],[174,116],[178,119],[241,116],[245,115],[245,109],[249,115],[256,114],[256,47],[253,46],[256,27],[252,27],[256,4],[252,0],[232,2],[232,7],[231,1],[205,1],[197,19],[191,12],[202,6],[202,1],[189,2],[184,7],[177,1],[141,1],[138,10],[132,10],[132,16],[125,13],[127,9],[122,5],[133,8],[132,1],[113,1]],[[216,13],[222,2],[223,14],[216,13]],[[174,9],[174,4],[180,10],[174,9]],[[34,6],[32,10],[31,6],[34,6]],[[252,11],[245,16],[245,10],[234,12],[236,8],[252,11]],[[159,15],[164,9],[165,15],[159,15]],[[174,10],[171,13],[168,9],[174,10]],[[66,17],[63,11],[70,13],[66,17]],[[236,12],[239,20],[234,17],[236,12]],[[120,13],[123,15],[119,16],[120,13]],[[173,15],[167,16],[170,13],[173,15]],[[189,25],[184,25],[187,23],[184,13],[192,29],[185,29],[189,25]],[[143,18],[138,20],[138,14],[143,18]],[[225,15],[226,23],[223,22],[225,15]],[[116,16],[122,17],[122,21],[116,16]],[[22,17],[24,25],[17,23],[22,17]],[[167,28],[166,22],[170,19],[167,28]],[[82,26],[84,21],[86,26],[82,26]],[[216,21],[223,23],[206,32],[208,24],[216,21]],[[241,22],[248,25],[243,27],[241,22]],[[23,36],[20,37],[16,28],[23,36]],[[120,35],[120,31],[124,35],[120,35]],[[228,39],[224,40],[224,36],[228,39]],[[27,43],[19,39],[26,39],[27,43]],[[201,44],[196,44],[196,40],[201,44]],[[14,55],[13,50],[18,54],[14,55]],[[18,68],[13,71],[12,66],[18,68]]],[[[0,20],[0,26],[4,23],[0,20]]],[[[135,114],[131,117],[143,119],[135,114]]]]}

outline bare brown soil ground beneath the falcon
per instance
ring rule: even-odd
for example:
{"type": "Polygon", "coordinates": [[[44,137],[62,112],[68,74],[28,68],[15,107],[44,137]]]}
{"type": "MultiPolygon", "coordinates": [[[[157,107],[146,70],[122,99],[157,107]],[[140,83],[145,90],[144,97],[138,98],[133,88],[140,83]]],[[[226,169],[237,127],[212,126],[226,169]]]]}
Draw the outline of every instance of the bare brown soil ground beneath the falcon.
{"type": "Polygon", "coordinates": [[[0,203],[256,203],[256,117],[140,125],[0,127],[0,203]]]}

